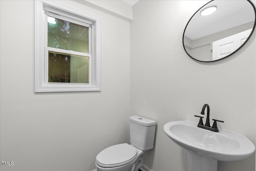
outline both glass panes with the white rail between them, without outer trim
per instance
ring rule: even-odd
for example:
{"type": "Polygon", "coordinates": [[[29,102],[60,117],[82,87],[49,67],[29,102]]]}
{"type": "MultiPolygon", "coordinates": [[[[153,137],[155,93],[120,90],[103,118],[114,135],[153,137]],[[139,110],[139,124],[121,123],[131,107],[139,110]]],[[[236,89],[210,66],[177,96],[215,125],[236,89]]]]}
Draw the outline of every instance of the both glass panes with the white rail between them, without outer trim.
{"type": "Polygon", "coordinates": [[[91,26],[82,26],[52,16],[46,13],[48,22],[45,58],[48,58],[48,82],[88,84],[89,62],[92,57],[89,52],[91,26]]]}

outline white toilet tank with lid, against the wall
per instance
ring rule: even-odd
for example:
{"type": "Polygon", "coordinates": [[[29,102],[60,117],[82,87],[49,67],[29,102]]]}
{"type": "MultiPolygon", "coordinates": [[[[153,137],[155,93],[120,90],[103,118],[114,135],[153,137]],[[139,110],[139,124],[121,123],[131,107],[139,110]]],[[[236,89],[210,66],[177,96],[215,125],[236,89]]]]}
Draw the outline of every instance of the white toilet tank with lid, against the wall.
{"type": "Polygon", "coordinates": [[[137,115],[130,117],[131,144],[141,150],[154,148],[156,121],[137,115]]]}

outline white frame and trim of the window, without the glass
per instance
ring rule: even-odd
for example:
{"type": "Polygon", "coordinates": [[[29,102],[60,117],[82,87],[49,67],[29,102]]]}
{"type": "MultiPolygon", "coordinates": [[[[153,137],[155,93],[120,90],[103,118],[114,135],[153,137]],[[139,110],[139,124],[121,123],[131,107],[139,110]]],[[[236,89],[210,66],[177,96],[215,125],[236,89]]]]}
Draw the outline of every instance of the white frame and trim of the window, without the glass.
{"type": "Polygon", "coordinates": [[[81,10],[66,6],[53,0],[35,0],[35,92],[61,91],[100,91],[101,90],[101,21],[81,10]],[[79,53],[47,47],[47,15],[64,16],[76,24],[89,27],[89,52],[79,53]],[[89,84],[83,83],[49,83],[48,82],[48,51],[89,57],[89,84]]]}

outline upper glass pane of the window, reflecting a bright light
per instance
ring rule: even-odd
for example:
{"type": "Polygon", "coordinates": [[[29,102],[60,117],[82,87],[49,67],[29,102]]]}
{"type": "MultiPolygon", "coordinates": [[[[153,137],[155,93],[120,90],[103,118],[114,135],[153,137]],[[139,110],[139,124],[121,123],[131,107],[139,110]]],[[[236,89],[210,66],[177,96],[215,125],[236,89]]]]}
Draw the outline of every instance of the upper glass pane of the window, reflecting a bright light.
{"type": "Polygon", "coordinates": [[[88,54],[88,27],[48,16],[48,47],[88,54]]]}

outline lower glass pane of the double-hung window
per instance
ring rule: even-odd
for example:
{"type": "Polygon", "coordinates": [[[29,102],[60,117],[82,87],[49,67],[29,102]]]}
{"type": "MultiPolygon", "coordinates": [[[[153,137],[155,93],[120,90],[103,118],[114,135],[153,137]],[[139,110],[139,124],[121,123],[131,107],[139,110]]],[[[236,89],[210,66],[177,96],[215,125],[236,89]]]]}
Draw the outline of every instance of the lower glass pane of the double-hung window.
{"type": "Polygon", "coordinates": [[[48,53],[48,82],[89,83],[89,57],[48,53]]]}

